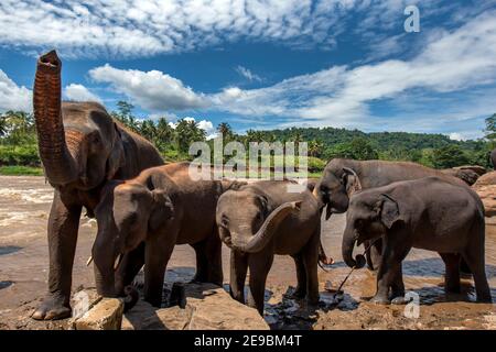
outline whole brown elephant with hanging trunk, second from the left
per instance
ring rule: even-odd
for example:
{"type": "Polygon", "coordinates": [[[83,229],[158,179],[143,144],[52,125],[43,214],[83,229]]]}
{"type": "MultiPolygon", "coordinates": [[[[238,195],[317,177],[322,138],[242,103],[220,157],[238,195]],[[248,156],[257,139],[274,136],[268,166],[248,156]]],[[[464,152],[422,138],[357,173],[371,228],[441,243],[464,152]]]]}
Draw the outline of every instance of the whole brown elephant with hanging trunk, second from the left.
{"type": "Polygon", "coordinates": [[[98,294],[122,295],[144,264],[144,299],[160,307],[166,264],[174,245],[185,243],[196,252],[194,279],[223,284],[215,209],[218,197],[239,183],[193,180],[188,167],[190,163],[153,167],[105,187],[96,208],[98,233],[93,246],[98,294]],[[129,273],[130,258],[119,264],[119,254],[139,248],[144,257],[132,258],[134,271],[129,273]]]}

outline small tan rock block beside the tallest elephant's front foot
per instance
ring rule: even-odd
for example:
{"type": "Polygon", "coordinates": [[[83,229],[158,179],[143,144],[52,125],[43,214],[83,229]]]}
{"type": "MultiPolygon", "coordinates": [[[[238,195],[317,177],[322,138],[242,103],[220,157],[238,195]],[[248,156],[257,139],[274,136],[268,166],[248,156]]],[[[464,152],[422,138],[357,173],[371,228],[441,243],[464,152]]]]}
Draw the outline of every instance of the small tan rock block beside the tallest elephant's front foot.
{"type": "Polygon", "coordinates": [[[91,309],[73,322],[75,330],[120,330],[123,302],[118,298],[101,298],[91,309]]]}

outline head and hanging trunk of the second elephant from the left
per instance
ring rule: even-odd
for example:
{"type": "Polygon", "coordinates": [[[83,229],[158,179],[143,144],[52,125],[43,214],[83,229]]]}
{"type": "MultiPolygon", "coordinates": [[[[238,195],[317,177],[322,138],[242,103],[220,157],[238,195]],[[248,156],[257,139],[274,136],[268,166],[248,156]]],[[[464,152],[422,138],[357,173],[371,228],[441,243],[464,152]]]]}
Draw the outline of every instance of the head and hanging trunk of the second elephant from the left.
{"type": "Polygon", "coordinates": [[[95,213],[98,232],[91,255],[96,287],[99,295],[115,297],[121,294],[115,289],[115,271],[122,255],[166,224],[173,205],[164,190],[116,180],[104,187],[95,213]]]}

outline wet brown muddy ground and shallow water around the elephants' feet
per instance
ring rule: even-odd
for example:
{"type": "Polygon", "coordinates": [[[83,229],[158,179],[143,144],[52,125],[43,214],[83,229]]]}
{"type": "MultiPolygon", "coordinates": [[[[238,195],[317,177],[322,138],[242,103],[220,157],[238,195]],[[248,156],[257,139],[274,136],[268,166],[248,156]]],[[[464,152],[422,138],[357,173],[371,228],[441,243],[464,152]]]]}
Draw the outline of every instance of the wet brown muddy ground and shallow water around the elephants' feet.
{"type": "MultiPolygon", "coordinates": [[[[46,221],[53,191],[42,177],[0,176],[0,329],[64,329],[66,320],[39,322],[30,318],[46,290],[48,254],[46,221]]],[[[474,302],[474,287],[463,279],[463,294],[445,297],[443,263],[434,252],[413,250],[403,262],[407,290],[420,295],[419,317],[407,318],[412,306],[377,306],[367,298],[375,292],[374,274],[356,271],[337,304],[326,286],[335,288],[348,274],[342,262],[344,217],[323,222],[324,245],[336,260],[330,272],[319,271],[323,305],[310,310],[284,297],[295,285],[294,264],[278,256],[268,277],[266,320],[272,329],[496,329],[496,305],[474,302]],[[410,309],[409,309],[410,308],[410,309]]],[[[73,289],[94,287],[93,268],[86,266],[96,234],[94,220],[82,218],[74,264],[73,289]]],[[[224,248],[225,277],[229,277],[229,250],[224,248]]],[[[179,245],[169,263],[168,280],[194,273],[194,252],[179,245]]],[[[486,228],[486,272],[496,301],[496,221],[486,228]]]]}

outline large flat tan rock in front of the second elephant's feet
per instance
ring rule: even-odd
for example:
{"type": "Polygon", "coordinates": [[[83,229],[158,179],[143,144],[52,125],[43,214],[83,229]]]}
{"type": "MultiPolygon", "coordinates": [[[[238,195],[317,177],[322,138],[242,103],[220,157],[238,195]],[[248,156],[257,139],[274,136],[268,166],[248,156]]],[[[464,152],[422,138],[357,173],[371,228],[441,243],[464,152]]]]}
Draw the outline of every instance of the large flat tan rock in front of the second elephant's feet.
{"type": "Polygon", "coordinates": [[[258,311],[234,300],[222,287],[185,285],[186,306],[153,308],[140,300],[122,319],[125,330],[269,330],[258,311]]]}

